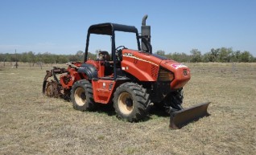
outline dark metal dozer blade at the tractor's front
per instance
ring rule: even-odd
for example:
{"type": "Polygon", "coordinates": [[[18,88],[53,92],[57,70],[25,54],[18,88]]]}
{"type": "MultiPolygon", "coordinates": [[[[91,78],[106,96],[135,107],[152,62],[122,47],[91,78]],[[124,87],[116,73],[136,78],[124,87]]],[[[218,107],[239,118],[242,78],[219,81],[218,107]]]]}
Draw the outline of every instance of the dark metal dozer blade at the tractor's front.
{"type": "Polygon", "coordinates": [[[199,120],[201,117],[209,116],[207,108],[211,102],[197,104],[191,108],[185,108],[171,113],[170,128],[180,129],[184,125],[199,120]]]}

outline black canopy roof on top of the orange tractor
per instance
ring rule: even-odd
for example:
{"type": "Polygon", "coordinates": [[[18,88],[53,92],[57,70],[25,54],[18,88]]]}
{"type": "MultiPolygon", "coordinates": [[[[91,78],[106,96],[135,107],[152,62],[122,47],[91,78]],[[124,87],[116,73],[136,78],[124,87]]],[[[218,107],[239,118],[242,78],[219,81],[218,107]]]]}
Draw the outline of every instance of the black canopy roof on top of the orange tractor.
{"type": "Polygon", "coordinates": [[[89,27],[88,33],[97,35],[112,35],[113,31],[138,33],[137,28],[134,26],[126,26],[110,22],[92,25],[89,27]]]}

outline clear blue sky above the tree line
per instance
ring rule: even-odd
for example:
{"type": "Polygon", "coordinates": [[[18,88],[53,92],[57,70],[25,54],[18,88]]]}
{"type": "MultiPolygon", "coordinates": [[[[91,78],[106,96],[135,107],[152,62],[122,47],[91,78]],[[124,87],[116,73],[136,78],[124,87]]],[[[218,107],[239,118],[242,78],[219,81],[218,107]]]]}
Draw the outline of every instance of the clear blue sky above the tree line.
{"type": "MultiPolygon", "coordinates": [[[[90,25],[115,22],[140,31],[144,14],[149,15],[154,52],[189,53],[197,48],[204,54],[211,48],[232,47],[256,56],[254,0],[0,0],[0,53],[17,49],[75,54],[85,51],[90,25]]],[[[106,40],[91,43],[91,51],[108,46],[106,40]]]]}

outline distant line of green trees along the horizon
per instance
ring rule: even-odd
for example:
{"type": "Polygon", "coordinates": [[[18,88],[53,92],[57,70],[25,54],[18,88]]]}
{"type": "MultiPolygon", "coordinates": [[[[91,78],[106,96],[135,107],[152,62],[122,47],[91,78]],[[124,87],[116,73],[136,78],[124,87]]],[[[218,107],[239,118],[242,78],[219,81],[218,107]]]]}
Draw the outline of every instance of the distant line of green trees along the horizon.
{"type": "MultiPolygon", "coordinates": [[[[33,51],[23,52],[19,54],[0,54],[1,62],[18,62],[29,63],[30,66],[34,66],[35,63],[67,63],[70,61],[83,61],[85,53],[83,51],[77,51],[75,55],[55,55],[49,52],[35,54],[33,51]]],[[[256,57],[250,54],[249,51],[233,51],[232,48],[212,48],[209,52],[204,55],[198,49],[192,49],[190,54],[186,53],[168,53],[159,50],[155,54],[163,55],[169,59],[174,59],[178,62],[256,62],[256,57]]],[[[96,54],[90,53],[88,57],[90,59],[96,59],[96,54]]]]}

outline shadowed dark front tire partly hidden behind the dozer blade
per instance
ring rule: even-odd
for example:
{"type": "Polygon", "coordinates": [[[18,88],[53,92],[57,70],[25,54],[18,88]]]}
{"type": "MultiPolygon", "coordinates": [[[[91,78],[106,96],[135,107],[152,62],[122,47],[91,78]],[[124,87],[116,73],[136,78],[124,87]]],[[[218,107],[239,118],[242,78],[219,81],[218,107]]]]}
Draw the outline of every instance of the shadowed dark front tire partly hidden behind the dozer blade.
{"type": "Polygon", "coordinates": [[[170,114],[171,112],[179,111],[182,108],[184,95],[183,89],[177,90],[175,92],[169,93],[163,100],[163,108],[165,112],[170,114]]]}

